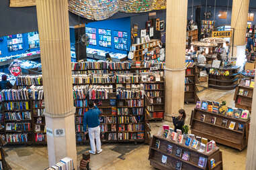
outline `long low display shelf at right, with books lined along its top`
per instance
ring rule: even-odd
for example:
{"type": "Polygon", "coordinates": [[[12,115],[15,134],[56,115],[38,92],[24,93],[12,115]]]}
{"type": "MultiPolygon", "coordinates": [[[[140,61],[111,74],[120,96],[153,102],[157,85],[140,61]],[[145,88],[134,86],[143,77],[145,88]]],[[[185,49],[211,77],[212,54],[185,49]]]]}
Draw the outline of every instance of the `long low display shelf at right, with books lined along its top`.
{"type": "Polygon", "coordinates": [[[191,133],[242,151],[248,143],[249,115],[249,110],[199,101],[191,114],[191,133]]]}

